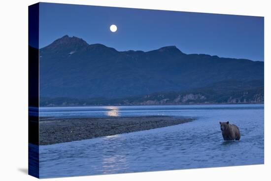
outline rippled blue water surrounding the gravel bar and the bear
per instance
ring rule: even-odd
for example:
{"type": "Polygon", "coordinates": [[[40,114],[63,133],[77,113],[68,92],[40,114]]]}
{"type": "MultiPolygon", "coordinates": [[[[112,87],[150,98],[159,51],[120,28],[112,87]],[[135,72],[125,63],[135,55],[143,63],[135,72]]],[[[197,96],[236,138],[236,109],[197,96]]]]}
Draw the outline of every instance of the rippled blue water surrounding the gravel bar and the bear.
{"type": "Polygon", "coordinates": [[[40,146],[40,177],[115,174],[264,163],[264,105],[42,108],[40,116],[196,117],[185,124],[40,146]],[[219,121],[236,124],[239,142],[224,142],[219,121]]]}

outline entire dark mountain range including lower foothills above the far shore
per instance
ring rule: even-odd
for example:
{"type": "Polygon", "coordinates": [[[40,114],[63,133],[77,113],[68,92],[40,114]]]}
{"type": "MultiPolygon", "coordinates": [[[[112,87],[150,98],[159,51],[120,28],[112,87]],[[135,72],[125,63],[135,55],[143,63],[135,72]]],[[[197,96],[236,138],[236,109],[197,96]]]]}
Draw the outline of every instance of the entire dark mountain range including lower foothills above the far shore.
{"type": "Polygon", "coordinates": [[[39,49],[39,80],[41,106],[264,102],[264,62],[176,46],[117,51],[75,36],[39,49]]]}

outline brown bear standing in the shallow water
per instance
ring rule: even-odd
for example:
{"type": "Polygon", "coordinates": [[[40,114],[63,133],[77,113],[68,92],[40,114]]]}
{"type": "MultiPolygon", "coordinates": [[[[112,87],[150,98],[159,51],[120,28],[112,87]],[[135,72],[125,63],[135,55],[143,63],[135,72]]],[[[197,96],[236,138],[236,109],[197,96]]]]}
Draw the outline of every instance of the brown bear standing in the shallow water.
{"type": "Polygon", "coordinates": [[[225,141],[231,141],[231,140],[240,140],[240,131],[239,128],[235,124],[230,124],[228,122],[219,122],[220,123],[220,129],[222,132],[223,139],[225,141]]]}

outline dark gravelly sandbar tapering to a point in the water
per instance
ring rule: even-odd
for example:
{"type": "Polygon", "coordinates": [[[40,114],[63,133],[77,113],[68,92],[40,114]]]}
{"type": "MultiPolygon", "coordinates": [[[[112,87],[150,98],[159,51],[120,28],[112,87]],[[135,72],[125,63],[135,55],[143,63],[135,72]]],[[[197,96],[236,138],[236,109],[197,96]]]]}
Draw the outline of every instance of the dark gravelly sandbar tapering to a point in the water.
{"type": "Polygon", "coordinates": [[[143,131],[193,121],[171,116],[40,118],[39,144],[52,145],[143,131]]]}

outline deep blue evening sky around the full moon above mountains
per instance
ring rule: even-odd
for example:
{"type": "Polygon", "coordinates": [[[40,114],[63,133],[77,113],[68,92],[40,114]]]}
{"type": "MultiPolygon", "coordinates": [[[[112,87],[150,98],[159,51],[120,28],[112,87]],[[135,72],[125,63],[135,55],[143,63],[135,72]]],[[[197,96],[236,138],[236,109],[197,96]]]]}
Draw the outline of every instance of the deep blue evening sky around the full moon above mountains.
{"type": "Polygon", "coordinates": [[[175,45],[187,54],[264,61],[264,17],[57,3],[39,10],[40,48],[68,35],[118,51],[175,45]]]}

